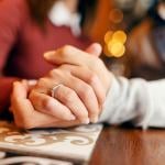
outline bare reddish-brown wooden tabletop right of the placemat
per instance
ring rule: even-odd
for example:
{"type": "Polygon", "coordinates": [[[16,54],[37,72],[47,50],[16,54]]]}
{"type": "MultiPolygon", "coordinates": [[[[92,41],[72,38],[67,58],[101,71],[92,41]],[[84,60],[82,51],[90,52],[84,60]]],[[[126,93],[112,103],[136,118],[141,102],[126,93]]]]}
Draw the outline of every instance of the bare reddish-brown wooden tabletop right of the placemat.
{"type": "Polygon", "coordinates": [[[165,165],[165,130],[105,128],[89,165],[165,165]]]}

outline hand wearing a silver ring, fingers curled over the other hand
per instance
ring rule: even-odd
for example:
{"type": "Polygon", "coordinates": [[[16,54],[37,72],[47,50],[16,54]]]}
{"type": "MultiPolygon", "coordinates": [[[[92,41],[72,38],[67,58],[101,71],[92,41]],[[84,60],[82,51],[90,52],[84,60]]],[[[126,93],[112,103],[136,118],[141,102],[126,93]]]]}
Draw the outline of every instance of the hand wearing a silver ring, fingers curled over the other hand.
{"type": "Polygon", "coordinates": [[[99,78],[87,67],[63,65],[50,72],[30,92],[35,110],[61,120],[97,122],[106,92],[99,78]],[[62,84],[51,96],[51,89],[62,84]]]}

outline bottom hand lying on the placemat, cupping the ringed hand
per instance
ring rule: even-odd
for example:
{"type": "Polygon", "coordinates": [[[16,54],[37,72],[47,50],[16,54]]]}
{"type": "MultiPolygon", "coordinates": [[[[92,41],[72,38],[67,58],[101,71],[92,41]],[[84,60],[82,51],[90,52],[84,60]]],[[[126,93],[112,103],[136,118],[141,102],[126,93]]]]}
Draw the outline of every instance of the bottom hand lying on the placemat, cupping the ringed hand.
{"type": "Polygon", "coordinates": [[[23,129],[33,128],[68,128],[80,124],[78,120],[63,121],[36,111],[28,99],[28,92],[33,85],[28,81],[15,81],[11,95],[11,111],[16,127],[23,129]]]}

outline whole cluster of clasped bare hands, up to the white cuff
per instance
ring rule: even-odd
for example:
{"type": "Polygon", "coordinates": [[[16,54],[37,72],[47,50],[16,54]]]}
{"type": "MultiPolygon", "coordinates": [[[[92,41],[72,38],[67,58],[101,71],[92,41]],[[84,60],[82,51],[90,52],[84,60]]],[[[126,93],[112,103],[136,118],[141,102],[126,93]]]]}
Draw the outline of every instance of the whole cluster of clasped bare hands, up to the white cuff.
{"type": "Polygon", "coordinates": [[[20,128],[67,128],[97,122],[106,92],[112,80],[98,58],[101,47],[90,45],[86,52],[64,46],[44,55],[48,63],[58,66],[35,85],[14,82],[11,110],[20,128]],[[51,89],[59,85],[54,98],[51,89]],[[92,101],[91,101],[92,100],[92,101]]]}

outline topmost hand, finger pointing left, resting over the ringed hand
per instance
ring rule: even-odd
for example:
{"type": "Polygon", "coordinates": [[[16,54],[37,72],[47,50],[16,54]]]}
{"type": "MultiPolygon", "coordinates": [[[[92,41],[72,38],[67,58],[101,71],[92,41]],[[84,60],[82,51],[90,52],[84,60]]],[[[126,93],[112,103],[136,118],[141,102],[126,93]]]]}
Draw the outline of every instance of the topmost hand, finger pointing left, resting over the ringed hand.
{"type": "Polygon", "coordinates": [[[88,67],[101,80],[106,91],[110,88],[113,75],[106,68],[103,62],[98,58],[101,54],[99,44],[90,45],[86,52],[82,52],[74,46],[64,46],[57,51],[44,54],[45,59],[53,65],[70,64],[75,66],[88,67]]]}

